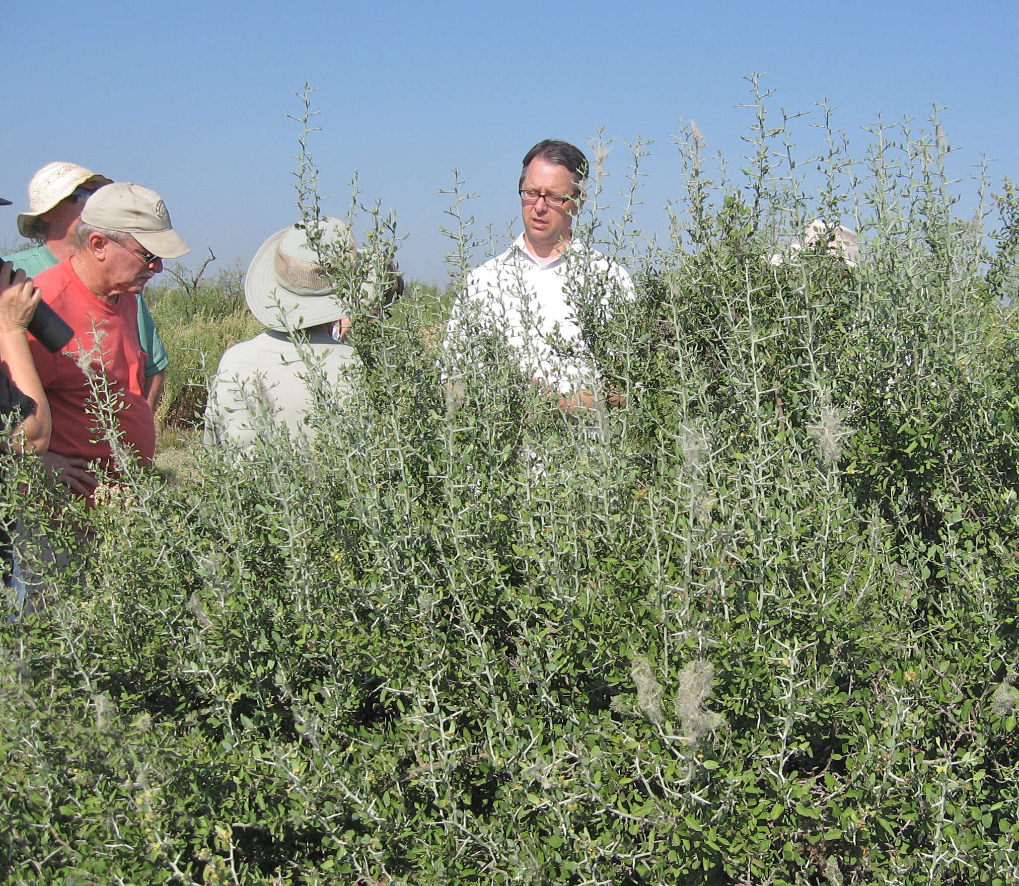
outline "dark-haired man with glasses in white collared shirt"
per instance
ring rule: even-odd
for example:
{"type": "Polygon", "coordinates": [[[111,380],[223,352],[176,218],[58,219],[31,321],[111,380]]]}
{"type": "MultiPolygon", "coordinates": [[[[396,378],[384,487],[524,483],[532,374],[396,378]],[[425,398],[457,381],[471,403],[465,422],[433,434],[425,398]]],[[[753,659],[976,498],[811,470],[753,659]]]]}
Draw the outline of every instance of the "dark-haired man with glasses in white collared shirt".
{"type": "Polygon", "coordinates": [[[578,317],[613,294],[631,296],[633,282],[622,266],[573,237],[587,174],[583,152],[566,142],[539,142],[524,157],[524,233],[468,274],[453,306],[446,344],[455,376],[480,362],[480,336],[496,332],[517,351],[521,369],[558,395],[564,408],[593,404],[597,378],[578,317]]]}

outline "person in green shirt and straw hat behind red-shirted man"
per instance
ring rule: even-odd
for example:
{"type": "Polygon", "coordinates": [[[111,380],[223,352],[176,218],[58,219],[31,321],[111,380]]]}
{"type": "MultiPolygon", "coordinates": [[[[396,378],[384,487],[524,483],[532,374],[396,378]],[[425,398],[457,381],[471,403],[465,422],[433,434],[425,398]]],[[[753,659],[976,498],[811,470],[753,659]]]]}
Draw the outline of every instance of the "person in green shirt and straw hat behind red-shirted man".
{"type": "MultiPolygon", "coordinates": [[[[74,252],[74,230],[85,202],[111,179],[75,163],[49,163],[29,182],[29,211],[17,217],[21,236],[39,245],[7,257],[17,270],[35,277],[74,252]]],[[[148,354],[145,396],[156,411],[163,392],[169,357],[145,299],[138,296],[138,338],[148,354]]]]}

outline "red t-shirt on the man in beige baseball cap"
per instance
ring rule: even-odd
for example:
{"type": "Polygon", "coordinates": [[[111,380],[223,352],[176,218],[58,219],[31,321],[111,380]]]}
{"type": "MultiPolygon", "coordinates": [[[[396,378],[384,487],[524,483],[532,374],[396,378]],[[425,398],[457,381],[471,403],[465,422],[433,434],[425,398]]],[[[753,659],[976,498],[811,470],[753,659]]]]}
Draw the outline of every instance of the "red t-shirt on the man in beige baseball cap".
{"type": "Polygon", "coordinates": [[[85,353],[91,354],[93,371],[105,374],[111,397],[119,400],[116,419],[121,439],[143,464],[149,464],[155,454],[156,426],[142,393],[146,354],[138,340],[138,300],[124,294],[111,302],[90,292],[71,268],[70,259],[34,279],[43,300],[74,330],[74,337],[59,353],[50,353],[29,336],[53,416],[50,449],[60,455],[86,458],[116,474],[99,420],[89,412],[89,406],[95,408],[96,399],[77,365],[85,353]]]}

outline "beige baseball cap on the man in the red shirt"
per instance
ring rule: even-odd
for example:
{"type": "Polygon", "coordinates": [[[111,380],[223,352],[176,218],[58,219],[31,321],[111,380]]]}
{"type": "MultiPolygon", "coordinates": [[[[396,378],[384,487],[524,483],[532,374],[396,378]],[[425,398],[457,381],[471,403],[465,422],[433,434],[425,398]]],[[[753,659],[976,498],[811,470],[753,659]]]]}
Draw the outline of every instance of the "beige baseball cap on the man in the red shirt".
{"type": "Polygon", "coordinates": [[[162,198],[151,188],[130,181],[115,181],[92,195],[82,210],[82,221],[130,234],[161,259],[179,259],[191,252],[191,246],[173,230],[162,198]]]}

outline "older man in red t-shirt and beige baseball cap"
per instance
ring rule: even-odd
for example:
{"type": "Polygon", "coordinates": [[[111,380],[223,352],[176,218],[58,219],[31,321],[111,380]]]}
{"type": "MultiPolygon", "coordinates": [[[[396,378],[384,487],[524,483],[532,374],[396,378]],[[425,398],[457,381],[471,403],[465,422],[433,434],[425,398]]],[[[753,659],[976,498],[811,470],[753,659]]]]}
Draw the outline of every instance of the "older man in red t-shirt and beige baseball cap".
{"type": "Polygon", "coordinates": [[[91,499],[97,472],[117,477],[125,458],[148,464],[155,454],[136,296],[163,270],[163,259],[190,250],[159,195],[130,182],[93,193],[75,237],[74,254],[35,278],[74,337],[55,354],[30,343],[53,417],[44,459],[61,483],[91,499]]]}

